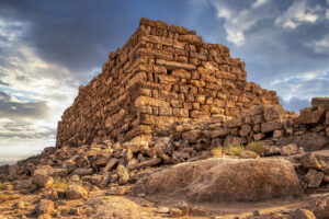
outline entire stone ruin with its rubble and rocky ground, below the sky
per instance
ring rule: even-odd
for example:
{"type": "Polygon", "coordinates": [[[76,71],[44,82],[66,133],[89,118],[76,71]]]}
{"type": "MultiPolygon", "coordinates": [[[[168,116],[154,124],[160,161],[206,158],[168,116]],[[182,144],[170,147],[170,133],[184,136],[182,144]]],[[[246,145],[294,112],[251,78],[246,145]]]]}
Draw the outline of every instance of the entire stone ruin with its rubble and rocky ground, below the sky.
{"type": "Polygon", "coordinates": [[[328,218],[329,97],[297,115],[246,76],[227,47],[141,19],[57,146],[0,166],[0,219],[328,218]]]}

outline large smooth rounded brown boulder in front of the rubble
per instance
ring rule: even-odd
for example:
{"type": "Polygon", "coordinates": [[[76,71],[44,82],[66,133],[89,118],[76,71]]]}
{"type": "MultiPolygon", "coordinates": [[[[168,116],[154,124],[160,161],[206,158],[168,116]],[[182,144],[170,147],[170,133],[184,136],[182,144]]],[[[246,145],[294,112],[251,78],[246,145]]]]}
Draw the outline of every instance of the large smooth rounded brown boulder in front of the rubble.
{"type": "Polygon", "coordinates": [[[207,201],[262,200],[304,193],[293,165],[285,160],[232,158],[177,164],[139,180],[133,191],[207,201]]]}

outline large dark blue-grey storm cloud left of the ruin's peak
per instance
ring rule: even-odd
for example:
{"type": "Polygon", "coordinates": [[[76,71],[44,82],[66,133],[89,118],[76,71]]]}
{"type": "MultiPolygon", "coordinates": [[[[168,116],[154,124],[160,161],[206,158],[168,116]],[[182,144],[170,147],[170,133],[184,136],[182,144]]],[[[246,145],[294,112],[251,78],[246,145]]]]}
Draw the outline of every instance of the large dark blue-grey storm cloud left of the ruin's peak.
{"type": "MultiPolygon", "coordinates": [[[[0,14],[24,21],[24,42],[45,60],[77,74],[101,67],[111,50],[124,45],[139,18],[179,23],[184,1],[1,1],[0,14]]],[[[82,79],[83,77],[77,77],[82,79]]],[[[86,81],[84,81],[86,82],[86,81]]]]}

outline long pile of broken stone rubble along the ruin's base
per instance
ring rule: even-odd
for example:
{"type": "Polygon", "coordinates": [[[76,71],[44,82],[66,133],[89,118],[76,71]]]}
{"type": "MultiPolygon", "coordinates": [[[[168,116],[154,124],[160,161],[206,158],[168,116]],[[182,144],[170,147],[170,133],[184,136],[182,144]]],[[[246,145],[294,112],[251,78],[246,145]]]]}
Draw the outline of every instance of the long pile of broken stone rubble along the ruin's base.
{"type": "Polygon", "coordinates": [[[324,105],[329,100],[321,99],[322,105],[317,101],[314,99],[314,106],[303,110],[300,116],[284,111],[280,105],[259,105],[224,124],[175,124],[167,137],[143,135],[124,142],[105,140],[81,147],[46,148],[39,155],[0,168],[1,176],[3,180],[32,176],[32,182],[42,187],[49,187],[56,176],[77,177],[100,187],[125,185],[137,182],[151,170],[161,170],[161,166],[209,158],[214,147],[263,141],[266,146],[264,155],[305,154],[294,158],[294,162],[300,164],[298,173],[302,182],[305,187],[319,187],[321,183],[329,183],[329,163],[326,160],[329,155],[314,161],[316,157],[313,153],[304,153],[329,146],[326,132],[329,108],[324,105]],[[299,138],[304,140],[292,141],[299,138]],[[287,145],[282,146],[282,142],[287,145]],[[308,154],[313,159],[309,162],[316,164],[305,164],[308,163],[309,159],[305,159],[308,154]]]}

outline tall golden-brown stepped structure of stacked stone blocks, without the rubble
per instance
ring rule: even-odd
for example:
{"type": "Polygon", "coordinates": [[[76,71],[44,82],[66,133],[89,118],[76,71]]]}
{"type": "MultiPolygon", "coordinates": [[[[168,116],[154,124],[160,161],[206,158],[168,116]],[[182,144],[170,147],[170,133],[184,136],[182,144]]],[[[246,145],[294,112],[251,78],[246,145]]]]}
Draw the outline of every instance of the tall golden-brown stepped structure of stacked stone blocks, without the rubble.
{"type": "Polygon", "coordinates": [[[164,135],[177,122],[222,123],[252,105],[279,104],[274,91],[247,81],[245,62],[194,31],[141,19],[102,72],[79,88],[58,123],[56,146],[164,135]]]}

